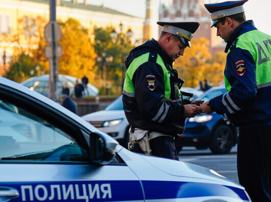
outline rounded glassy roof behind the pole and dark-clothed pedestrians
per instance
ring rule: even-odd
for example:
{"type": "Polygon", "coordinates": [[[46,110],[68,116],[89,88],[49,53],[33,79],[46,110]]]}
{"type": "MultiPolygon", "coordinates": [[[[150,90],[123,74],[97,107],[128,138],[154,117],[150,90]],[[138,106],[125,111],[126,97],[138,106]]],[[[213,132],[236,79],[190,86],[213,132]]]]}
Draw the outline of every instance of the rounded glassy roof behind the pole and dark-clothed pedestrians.
{"type": "MultiPolygon", "coordinates": [[[[71,77],[70,75],[58,74],[57,94],[61,95],[62,86],[64,85],[64,83],[67,83],[67,86],[70,89],[70,95],[73,95],[76,80],[81,82],[81,79],[71,77]]],[[[21,82],[20,84],[44,96],[49,96],[49,74],[44,74],[39,77],[32,77],[24,82],[21,82]]],[[[87,84],[87,90],[88,95],[97,95],[99,93],[99,90],[91,84],[87,84]]]]}

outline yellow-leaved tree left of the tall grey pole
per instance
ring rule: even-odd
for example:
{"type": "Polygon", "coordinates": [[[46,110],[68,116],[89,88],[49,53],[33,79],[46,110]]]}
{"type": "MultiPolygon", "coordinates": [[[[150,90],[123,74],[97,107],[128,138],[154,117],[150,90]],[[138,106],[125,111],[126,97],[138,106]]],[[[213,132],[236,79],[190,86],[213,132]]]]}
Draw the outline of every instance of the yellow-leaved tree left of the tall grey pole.
{"type": "Polygon", "coordinates": [[[47,59],[44,58],[45,21],[40,16],[24,16],[18,19],[17,27],[12,29],[11,33],[14,34],[6,36],[5,41],[17,44],[13,47],[11,66],[5,75],[8,79],[21,82],[41,72],[48,72],[47,59]]]}

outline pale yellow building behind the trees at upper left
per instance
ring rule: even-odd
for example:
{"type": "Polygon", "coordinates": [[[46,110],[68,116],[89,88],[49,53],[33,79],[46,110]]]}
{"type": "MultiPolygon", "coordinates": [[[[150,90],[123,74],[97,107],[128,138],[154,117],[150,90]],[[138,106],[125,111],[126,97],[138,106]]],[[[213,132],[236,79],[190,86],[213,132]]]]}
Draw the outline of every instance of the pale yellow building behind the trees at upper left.
{"type": "MultiPolygon", "coordinates": [[[[17,32],[18,20],[24,19],[25,25],[28,19],[41,16],[49,22],[49,0],[0,0],[0,35],[13,35],[17,32]]],[[[105,28],[112,26],[120,33],[119,24],[123,24],[122,32],[129,29],[133,32],[131,41],[142,42],[144,18],[131,16],[104,6],[87,5],[86,1],[79,4],[77,0],[57,0],[57,20],[65,21],[75,18],[88,30],[94,27],[105,28]]],[[[13,47],[16,43],[0,41],[0,75],[6,69],[13,55],[13,47]]]]}

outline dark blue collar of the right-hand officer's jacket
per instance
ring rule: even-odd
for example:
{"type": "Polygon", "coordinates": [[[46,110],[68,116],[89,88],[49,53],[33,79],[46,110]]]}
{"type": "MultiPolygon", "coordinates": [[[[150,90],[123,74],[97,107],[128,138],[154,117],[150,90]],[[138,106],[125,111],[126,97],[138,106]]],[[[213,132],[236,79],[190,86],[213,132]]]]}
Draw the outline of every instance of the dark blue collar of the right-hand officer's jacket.
{"type": "Polygon", "coordinates": [[[225,48],[225,53],[228,53],[229,48],[231,47],[232,43],[242,34],[252,31],[252,30],[257,30],[257,28],[254,26],[254,22],[252,20],[247,20],[244,23],[240,24],[233,33],[231,34],[230,40],[226,45],[225,48]]]}

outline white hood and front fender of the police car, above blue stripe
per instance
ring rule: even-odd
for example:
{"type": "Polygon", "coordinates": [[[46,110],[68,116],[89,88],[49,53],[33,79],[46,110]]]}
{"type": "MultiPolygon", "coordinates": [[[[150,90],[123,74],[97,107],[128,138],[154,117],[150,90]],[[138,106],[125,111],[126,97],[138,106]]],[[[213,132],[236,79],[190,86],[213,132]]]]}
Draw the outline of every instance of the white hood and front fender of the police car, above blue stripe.
{"type": "Polygon", "coordinates": [[[142,180],[150,180],[152,176],[156,175],[160,176],[159,180],[179,179],[180,181],[214,183],[243,189],[241,185],[205,167],[182,161],[132,153],[120,145],[118,145],[117,153],[142,180]],[[155,169],[153,169],[154,167],[155,169]]]}

